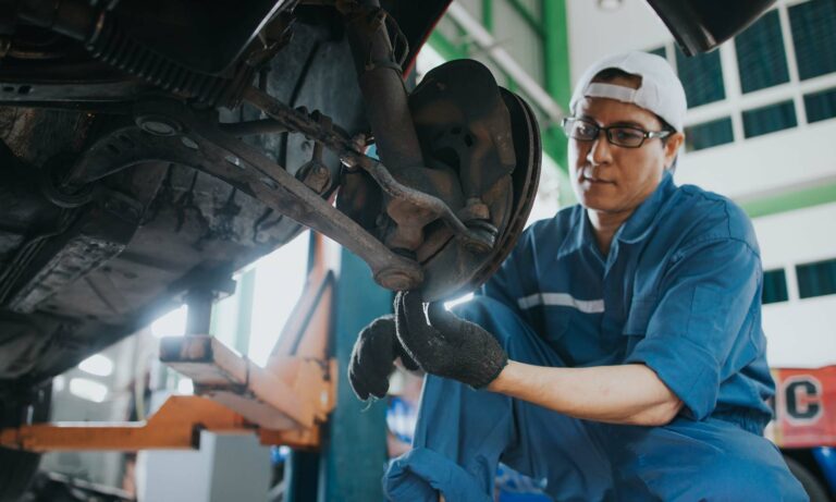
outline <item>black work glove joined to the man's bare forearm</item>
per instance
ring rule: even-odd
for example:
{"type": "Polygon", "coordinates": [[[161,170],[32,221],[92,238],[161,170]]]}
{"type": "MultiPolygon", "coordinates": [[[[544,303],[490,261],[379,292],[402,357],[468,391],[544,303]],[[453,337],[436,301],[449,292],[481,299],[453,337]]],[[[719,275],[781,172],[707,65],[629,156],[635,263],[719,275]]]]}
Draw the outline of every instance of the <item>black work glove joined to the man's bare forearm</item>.
{"type": "Polygon", "coordinates": [[[417,292],[395,296],[397,338],[425,371],[481,389],[508,364],[508,355],[491,333],[459,319],[440,302],[430,304],[427,316],[417,292]]]}

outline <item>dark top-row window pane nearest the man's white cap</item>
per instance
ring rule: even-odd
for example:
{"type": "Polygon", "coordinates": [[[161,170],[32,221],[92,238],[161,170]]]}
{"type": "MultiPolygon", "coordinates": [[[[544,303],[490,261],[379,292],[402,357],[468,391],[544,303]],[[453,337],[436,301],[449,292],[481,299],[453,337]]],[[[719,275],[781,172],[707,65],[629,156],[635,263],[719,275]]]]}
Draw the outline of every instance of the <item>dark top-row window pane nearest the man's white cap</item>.
{"type": "Polygon", "coordinates": [[[676,70],[685,87],[688,108],[726,98],[720,51],[687,57],[679,46],[676,46],[676,70]]]}

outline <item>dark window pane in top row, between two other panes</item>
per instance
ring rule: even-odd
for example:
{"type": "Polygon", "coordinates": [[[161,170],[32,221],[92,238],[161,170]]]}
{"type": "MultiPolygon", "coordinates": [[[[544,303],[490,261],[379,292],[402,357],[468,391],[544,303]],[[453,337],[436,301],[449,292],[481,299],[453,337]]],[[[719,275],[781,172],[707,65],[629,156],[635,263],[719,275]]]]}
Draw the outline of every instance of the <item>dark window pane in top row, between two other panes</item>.
{"type": "Polygon", "coordinates": [[[789,82],[778,11],[770,11],[735,37],[743,93],[789,82]]]}

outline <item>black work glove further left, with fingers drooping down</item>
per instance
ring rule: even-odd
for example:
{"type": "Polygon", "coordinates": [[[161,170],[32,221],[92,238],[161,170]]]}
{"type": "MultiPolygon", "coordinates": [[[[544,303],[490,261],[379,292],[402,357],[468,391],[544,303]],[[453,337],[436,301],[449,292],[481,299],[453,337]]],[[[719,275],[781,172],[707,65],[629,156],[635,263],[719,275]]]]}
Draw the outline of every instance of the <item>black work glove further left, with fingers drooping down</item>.
{"type": "Polygon", "coordinates": [[[348,382],[357,397],[366,401],[369,394],[385,396],[389,375],[397,357],[401,357],[406,369],[418,369],[418,365],[397,341],[393,315],[379,317],[364,328],[354,343],[352,360],[348,363],[348,382]]]}

